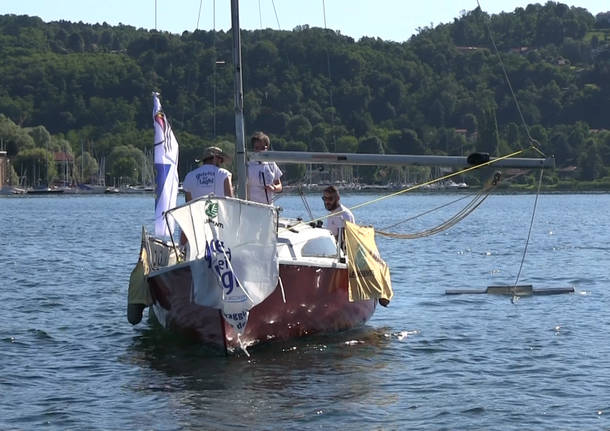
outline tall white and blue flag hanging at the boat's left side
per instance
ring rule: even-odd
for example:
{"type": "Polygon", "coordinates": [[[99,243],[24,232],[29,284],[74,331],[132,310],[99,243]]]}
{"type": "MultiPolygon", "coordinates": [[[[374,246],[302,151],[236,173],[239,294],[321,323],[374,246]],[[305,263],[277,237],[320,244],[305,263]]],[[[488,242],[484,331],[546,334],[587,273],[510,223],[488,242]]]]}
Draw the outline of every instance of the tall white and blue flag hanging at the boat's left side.
{"type": "Polygon", "coordinates": [[[163,213],[176,206],[178,197],[178,141],[167,121],[159,93],[153,92],[153,125],[155,128],[155,234],[169,236],[174,221],[165,222],[163,213]]]}

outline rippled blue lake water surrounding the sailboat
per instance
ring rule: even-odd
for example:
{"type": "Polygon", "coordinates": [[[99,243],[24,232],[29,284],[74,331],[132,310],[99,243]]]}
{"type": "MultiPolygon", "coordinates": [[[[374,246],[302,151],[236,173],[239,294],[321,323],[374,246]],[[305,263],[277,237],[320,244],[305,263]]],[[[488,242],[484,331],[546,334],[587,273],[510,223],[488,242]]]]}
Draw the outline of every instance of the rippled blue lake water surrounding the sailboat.
{"type": "MultiPolygon", "coordinates": [[[[384,227],[452,201],[354,211],[384,227]]],[[[347,206],[377,195],[345,194],[347,206]]],[[[314,216],[319,195],[307,197],[314,216]]],[[[491,196],[416,240],[378,238],[395,297],[357,331],[219,357],[126,319],[151,195],[0,198],[0,429],[610,430],[610,195],[491,196]]],[[[460,205],[394,230],[435,225],[460,205]]],[[[298,196],[277,204],[307,217],[298,196]]]]}

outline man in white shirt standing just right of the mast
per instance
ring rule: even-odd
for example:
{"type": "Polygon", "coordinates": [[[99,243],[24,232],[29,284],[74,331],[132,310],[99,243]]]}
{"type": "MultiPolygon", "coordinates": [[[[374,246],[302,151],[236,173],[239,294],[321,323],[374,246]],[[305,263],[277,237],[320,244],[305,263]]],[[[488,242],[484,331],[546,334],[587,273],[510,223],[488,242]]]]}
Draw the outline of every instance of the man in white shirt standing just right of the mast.
{"type": "MultiPolygon", "coordinates": [[[[269,149],[269,136],[256,132],[250,138],[252,150],[256,153],[269,149]]],[[[275,193],[282,192],[283,173],[275,162],[248,162],[248,200],[271,204],[275,193]]]]}

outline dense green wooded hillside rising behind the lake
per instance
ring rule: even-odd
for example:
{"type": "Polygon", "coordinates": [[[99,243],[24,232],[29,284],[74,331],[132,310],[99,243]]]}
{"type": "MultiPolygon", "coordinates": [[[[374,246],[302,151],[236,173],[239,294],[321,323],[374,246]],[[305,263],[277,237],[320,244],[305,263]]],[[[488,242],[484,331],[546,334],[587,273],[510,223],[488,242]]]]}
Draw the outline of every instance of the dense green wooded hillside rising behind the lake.
{"type": "MultiPolygon", "coordinates": [[[[610,166],[607,134],[597,133],[610,129],[608,14],[557,2],[492,16],[477,8],[404,43],[308,26],[243,31],[246,133],[265,131],[276,150],[398,154],[501,155],[535,139],[565,172],[578,166],[578,178],[599,179],[610,166]]],[[[30,182],[46,177],[31,150],[46,148],[76,154],[87,165],[81,181],[102,157],[109,183],[142,181],[157,90],[183,177],[205,146],[233,146],[231,46],[229,32],[2,15],[2,145],[30,182]]],[[[401,174],[357,171],[370,181],[401,174]]]]}

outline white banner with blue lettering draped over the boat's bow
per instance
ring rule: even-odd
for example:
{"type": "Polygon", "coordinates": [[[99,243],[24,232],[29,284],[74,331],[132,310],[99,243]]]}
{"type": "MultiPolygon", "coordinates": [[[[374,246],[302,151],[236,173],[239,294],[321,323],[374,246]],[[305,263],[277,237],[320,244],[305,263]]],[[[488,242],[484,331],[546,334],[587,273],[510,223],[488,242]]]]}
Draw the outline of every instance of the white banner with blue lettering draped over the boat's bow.
{"type": "Polygon", "coordinates": [[[171,211],[188,240],[193,301],[222,310],[241,334],[249,310],[279,277],[277,212],[233,198],[201,198],[171,211]]]}

